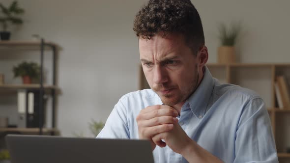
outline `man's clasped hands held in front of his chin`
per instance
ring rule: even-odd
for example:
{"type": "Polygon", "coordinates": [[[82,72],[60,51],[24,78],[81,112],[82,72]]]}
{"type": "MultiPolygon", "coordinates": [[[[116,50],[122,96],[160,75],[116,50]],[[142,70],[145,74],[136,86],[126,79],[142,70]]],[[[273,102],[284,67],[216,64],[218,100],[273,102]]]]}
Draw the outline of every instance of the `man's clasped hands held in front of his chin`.
{"type": "Polygon", "coordinates": [[[181,154],[191,139],[177,123],[177,116],[177,110],[165,105],[142,109],[136,118],[139,138],[149,140],[152,150],[156,145],[168,145],[174,152],[181,154]]]}

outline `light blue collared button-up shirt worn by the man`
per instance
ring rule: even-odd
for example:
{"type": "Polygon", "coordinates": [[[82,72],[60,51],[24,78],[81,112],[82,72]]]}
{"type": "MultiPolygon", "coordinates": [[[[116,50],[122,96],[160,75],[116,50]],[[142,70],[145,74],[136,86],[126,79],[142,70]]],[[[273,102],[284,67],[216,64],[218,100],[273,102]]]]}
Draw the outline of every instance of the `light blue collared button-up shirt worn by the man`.
{"type": "MultiPolygon", "coordinates": [[[[124,95],[98,138],[138,139],[141,109],[162,105],[151,89],[124,95]]],[[[270,118],[261,97],[233,84],[221,84],[205,67],[203,80],[181,108],[179,125],[205,150],[225,163],[278,163],[270,118]]],[[[188,163],[168,146],[156,146],[155,163],[188,163]]]]}

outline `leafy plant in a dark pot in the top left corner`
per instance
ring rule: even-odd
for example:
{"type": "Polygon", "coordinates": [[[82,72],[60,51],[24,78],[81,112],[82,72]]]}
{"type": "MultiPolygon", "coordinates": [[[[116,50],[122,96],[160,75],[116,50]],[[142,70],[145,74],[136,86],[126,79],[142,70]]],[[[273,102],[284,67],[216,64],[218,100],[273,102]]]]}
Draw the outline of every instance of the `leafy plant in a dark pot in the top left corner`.
{"type": "Polygon", "coordinates": [[[1,40],[9,40],[10,32],[7,31],[8,24],[23,24],[23,20],[18,15],[24,13],[24,9],[18,6],[18,2],[14,0],[9,7],[5,7],[0,3],[2,14],[0,15],[0,23],[2,24],[2,31],[0,31],[1,40]]]}

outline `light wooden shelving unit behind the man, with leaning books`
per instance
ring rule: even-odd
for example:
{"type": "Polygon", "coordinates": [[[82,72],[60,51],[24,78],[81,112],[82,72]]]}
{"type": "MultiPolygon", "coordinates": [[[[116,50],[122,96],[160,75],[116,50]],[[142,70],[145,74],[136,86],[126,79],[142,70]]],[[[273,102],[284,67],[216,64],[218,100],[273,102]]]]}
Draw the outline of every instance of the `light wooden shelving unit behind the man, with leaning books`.
{"type": "MultiPolygon", "coordinates": [[[[278,108],[274,84],[278,75],[290,80],[290,63],[208,63],[206,66],[222,83],[240,85],[260,94],[271,118],[279,162],[289,163],[290,153],[286,152],[290,148],[290,108],[278,108]]],[[[149,88],[140,67],[140,89],[149,88]]]]}

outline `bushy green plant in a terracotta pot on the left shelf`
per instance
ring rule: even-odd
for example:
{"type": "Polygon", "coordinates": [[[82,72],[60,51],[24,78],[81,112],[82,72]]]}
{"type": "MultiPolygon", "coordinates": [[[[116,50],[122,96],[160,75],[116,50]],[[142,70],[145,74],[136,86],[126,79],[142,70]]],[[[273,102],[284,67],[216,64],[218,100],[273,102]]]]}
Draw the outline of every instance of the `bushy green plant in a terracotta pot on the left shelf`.
{"type": "Polygon", "coordinates": [[[22,77],[24,84],[30,84],[32,79],[39,79],[40,67],[35,62],[22,62],[13,67],[14,77],[22,77]]]}

